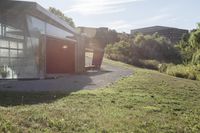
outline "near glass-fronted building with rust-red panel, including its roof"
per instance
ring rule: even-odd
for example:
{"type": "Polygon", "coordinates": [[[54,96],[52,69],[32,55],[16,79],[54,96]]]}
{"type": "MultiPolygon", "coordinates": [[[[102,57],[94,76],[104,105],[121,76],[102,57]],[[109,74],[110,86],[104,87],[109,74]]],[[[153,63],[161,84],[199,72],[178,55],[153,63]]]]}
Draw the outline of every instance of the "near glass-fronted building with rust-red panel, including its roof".
{"type": "Polygon", "coordinates": [[[84,38],[35,2],[0,1],[0,79],[81,73],[84,38]]]}

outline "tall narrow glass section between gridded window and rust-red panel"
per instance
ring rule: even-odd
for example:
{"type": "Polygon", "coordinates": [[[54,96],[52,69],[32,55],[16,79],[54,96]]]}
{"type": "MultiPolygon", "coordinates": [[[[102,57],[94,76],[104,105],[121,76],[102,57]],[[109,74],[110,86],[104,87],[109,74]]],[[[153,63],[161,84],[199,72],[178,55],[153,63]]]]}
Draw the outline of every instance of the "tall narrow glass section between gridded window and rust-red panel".
{"type": "MultiPolygon", "coordinates": [[[[27,16],[27,31],[28,36],[26,39],[26,56],[28,57],[27,65],[29,67],[26,68],[27,77],[28,75],[34,75],[34,77],[40,76],[40,53],[42,50],[40,49],[40,38],[45,34],[45,22],[32,17],[27,16]]],[[[33,76],[32,76],[33,77],[33,76]]]]}

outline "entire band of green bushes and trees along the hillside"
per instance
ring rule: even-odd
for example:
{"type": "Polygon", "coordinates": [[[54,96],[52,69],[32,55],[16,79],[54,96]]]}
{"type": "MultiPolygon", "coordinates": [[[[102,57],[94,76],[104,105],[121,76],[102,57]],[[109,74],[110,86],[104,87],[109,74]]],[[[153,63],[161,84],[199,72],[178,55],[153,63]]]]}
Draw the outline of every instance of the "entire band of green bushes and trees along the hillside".
{"type": "Polygon", "coordinates": [[[188,35],[183,35],[177,44],[172,44],[158,33],[124,36],[119,42],[107,45],[106,56],[172,76],[200,80],[199,49],[200,26],[188,35]]]}

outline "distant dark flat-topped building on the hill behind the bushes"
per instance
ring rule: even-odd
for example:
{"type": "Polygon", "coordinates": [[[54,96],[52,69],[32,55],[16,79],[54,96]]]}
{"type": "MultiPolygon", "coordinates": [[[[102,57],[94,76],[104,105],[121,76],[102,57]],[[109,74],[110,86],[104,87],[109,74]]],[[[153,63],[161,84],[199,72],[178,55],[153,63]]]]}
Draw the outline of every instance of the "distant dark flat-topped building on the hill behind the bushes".
{"type": "Polygon", "coordinates": [[[135,35],[137,33],[142,33],[144,35],[152,35],[156,32],[159,35],[165,36],[166,38],[171,40],[172,43],[178,42],[179,40],[181,40],[184,34],[188,34],[188,30],[185,29],[178,29],[165,26],[152,26],[131,30],[131,35],[135,35]]]}

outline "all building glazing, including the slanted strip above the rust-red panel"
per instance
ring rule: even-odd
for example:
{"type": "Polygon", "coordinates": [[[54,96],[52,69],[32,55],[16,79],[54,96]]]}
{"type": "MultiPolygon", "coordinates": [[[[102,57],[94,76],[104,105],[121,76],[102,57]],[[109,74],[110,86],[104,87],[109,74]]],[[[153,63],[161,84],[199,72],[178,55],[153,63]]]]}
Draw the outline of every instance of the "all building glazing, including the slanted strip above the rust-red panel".
{"type": "Polygon", "coordinates": [[[73,34],[36,17],[27,15],[24,18],[20,28],[19,22],[14,26],[15,22],[2,23],[0,20],[0,79],[39,78],[44,73],[41,68],[45,62],[41,57],[44,55],[41,37],[73,37],[73,34]]]}

